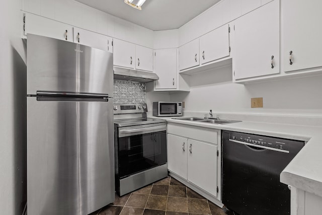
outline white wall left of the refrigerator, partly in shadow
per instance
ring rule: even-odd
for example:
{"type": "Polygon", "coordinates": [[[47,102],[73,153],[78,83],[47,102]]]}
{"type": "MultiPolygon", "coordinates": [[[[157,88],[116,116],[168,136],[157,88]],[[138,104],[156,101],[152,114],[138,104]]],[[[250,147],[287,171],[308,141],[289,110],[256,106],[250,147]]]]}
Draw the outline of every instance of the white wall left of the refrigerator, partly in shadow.
{"type": "Polygon", "coordinates": [[[22,214],[26,201],[26,64],[22,0],[0,7],[0,213],[22,214]]]}

